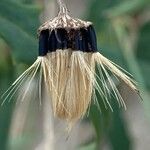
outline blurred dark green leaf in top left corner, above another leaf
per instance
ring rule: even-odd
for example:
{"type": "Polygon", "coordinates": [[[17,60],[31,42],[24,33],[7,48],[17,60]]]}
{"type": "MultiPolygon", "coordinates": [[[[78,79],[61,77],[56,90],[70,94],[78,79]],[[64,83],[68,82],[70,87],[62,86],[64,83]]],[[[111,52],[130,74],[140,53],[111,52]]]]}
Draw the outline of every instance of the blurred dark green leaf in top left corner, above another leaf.
{"type": "Polygon", "coordinates": [[[31,36],[36,36],[36,31],[39,26],[39,10],[35,5],[25,5],[8,0],[0,1],[0,15],[17,24],[31,36]],[[15,11],[17,10],[17,11],[15,11]]]}

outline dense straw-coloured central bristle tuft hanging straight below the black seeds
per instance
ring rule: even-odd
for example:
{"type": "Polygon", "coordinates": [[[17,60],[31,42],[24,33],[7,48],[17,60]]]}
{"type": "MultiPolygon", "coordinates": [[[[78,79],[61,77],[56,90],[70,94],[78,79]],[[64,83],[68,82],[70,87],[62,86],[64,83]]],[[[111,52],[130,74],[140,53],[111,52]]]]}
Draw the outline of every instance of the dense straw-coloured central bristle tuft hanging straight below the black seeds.
{"type": "Polygon", "coordinates": [[[71,49],[57,50],[47,55],[53,70],[50,73],[53,85],[48,82],[48,90],[54,115],[69,123],[82,118],[91,103],[95,80],[91,58],[92,53],[71,49]]]}

